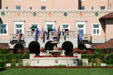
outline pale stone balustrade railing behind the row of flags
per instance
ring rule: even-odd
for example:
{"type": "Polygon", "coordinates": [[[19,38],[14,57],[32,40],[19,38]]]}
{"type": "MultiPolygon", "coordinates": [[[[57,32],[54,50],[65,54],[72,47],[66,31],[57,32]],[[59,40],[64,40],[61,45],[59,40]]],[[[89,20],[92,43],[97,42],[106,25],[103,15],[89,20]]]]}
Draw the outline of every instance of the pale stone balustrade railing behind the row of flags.
{"type": "MultiPolygon", "coordinates": [[[[24,40],[24,38],[34,38],[35,32],[32,31],[25,31],[25,34],[22,35],[21,39],[24,40]]],[[[66,38],[78,38],[78,32],[77,31],[67,31],[66,33],[61,31],[60,32],[60,39],[63,39],[64,36],[66,35],[66,38]]],[[[47,38],[48,33],[45,32],[45,38],[47,38]]],[[[43,32],[40,32],[40,34],[38,34],[39,38],[43,37],[43,32]]],[[[58,33],[53,34],[53,31],[49,32],[49,39],[53,39],[53,37],[58,37],[58,33]]],[[[11,40],[17,40],[18,36],[17,34],[12,34],[11,35],[11,40]]],[[[82,35],[82,40],[84,41],[88,41],[91,42],[92,37],[90,34],[84,34],[82,35]]]]}

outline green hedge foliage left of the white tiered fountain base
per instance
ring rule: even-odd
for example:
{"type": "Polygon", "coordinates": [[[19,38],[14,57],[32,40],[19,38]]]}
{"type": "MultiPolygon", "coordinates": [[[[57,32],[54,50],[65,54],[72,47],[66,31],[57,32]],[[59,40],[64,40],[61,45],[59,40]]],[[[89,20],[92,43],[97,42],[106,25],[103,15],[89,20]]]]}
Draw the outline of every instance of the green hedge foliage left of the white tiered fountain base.
{"type": "MultiPolygon", "coordinates": [[[[11,54],[2,50],[2,54],[0,54],[0,63],[3,62],[4,64],[6,63],[11,63],[12,66],[16,66],[16,63],[19,63],[19,66],[22,66],[22,59],[28,59],[29,58],[29,53],[25,54],[11,54]]],[[[0,64],[1,65],[1,64],[0,64]]]]}

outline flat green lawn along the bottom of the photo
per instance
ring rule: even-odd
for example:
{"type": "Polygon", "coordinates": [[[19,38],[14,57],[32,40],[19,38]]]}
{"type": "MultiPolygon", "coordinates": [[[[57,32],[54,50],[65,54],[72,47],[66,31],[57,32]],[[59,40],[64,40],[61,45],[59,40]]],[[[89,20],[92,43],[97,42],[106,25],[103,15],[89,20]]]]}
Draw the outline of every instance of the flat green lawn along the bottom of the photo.
{"type": "Polygon", "coordinates": [[[0,75],[113,75],[113,69],[15,68],[1,71],[0,75]]]}

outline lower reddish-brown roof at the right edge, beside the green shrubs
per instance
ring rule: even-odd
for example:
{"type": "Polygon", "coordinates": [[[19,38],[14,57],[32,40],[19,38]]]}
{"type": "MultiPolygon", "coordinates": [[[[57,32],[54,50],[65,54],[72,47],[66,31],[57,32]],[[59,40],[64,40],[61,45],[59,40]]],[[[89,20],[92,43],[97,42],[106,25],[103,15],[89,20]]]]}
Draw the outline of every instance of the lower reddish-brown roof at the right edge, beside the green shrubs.
{"type": "Polygon", "coordinates": [[[101,44],[94,44],[92,46],[93,49],[113,49],[113,39],[105,42],[105,43],[101,43],[101,44]]]}

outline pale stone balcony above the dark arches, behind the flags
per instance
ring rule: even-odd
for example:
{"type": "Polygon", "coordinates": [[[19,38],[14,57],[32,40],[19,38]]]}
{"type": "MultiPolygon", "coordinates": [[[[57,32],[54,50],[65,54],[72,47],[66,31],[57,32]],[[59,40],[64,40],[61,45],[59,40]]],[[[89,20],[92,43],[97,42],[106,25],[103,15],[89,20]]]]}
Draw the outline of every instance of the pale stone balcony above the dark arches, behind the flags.
{"type": "MultiPolygon", "coordinates": [[[[22,35],[21,43],[28,43],[30,41],[33,41],[34,40],[34,34],[35,34],[35,32],[25,31],[25,34],[22,35]],[[27,38],[29,38],[29,40],[25,41],[25,39],[27,39],[27,38]]],[[[39,34],[39,40],[41,40],[41,38],[43,36],[42,34],[43,33],[40,32],[40,34],[39,34]]],[[[64,40],[64,36],[65,35],[66,35],[66,41],[72,41],[73,39],[76,39],[76,41],[77,41],[77,39],[78,39],[78,33],[77,33],[77,31],[67,31],[66,34],[64,34],[61,31],[61,34],[60,34],[60,40],[61,41],[64,40]]],[[[50,31],[50,33],[49,33],[49,40],[53,40],[54,37],[58,37],[57,34],[56,35],[53,35],[53,32],[50,31]]],[[[47,32],[45,33],[45,39],[46,38],[47,38],[47,32]]],[[[84,42],[84,44],[91,44],[91,42],[92,42],[91,35],[90,34],[84,34],[84,35],[82,35],[82,41],[84,42]]],[[[11,35],[10,43],[11,44],[18,43],[18,41],[17,41],[17,35],[16,34],[12,34],[11,35]]]]}

